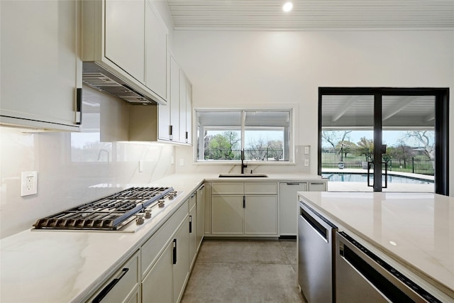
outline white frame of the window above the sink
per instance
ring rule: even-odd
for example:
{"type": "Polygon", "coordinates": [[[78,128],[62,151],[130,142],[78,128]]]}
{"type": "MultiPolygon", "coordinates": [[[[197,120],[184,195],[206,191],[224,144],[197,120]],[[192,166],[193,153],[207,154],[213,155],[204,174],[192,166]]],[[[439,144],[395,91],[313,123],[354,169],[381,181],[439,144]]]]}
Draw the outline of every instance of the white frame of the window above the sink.
{"type": "MultiPolygon", "coordinates": [[[[289,160],[278,160],[278,161],[268,161],[268,160],[247,160],[250,165],[295,165],[294,160],[294,109],[291,107],[282,107],[282,108],[194,108],[194,164],[197,165],[238,165],[241,163],[240,160],[199,160],[197,155],[197,148],[199,148],[199,113],[215,113],[215,112],[236,112],[238,111],[241,115],[241,125],[240,125],[240,136],[241,136],[241,145],[240,149],[245,148],[245,131],[248,126],[245,126],[245,117],[247,112],[258,111],[258,112],[288,112],[289,113],[289,140],[288,140],[288,150],[289,150],[289,160]]],[[[223,126],[208,126],[209,128],[222,128],[223,126]]],[[[252,126],[253,128],[272,128],[272,126],[252,126]]],[[[238,126],[225,126],[225,128],[238,128],[238,126]]],[[[283,146],[285,150],[285,143],[283,146]]]]}

